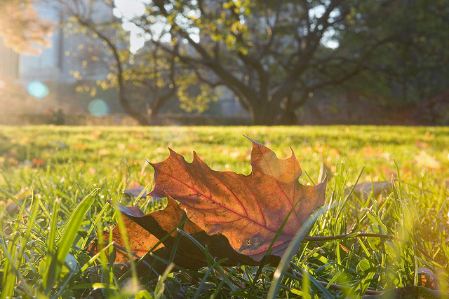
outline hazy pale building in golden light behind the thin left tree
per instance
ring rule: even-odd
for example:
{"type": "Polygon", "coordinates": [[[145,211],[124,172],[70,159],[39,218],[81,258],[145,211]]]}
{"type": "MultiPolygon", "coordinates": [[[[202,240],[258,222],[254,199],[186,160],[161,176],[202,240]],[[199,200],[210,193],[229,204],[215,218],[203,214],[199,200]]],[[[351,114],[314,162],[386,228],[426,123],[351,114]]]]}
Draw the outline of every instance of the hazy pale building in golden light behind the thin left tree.
{"type": "MultiPolygon", "coordinates": [[[[96,81],[106,79],[110,72],[111,58],[105,55],[107,51],[98,36],[67,22],[73,11],[95,22],[120,22],[106,1],[36,0],[34,9],[39,18],[55,25],[51,46],[39,49],[36,55],[18,54],[0,39],[1,123],[8,123],[14,117],[21,119],[24,115],[43,115],[51,109],[85,113],[93,96],[76,92],[79,80],[95,86],[96,81]]],[[[105,34],[114,39],[119,32],[108,27],[105,34]]],[[[119,48],[127,46],[119,44],[119,48]]],[[[111,106],[119,106],[115,90],[107,91],[107,97],[110,98],[105,101],[109,100],[111,106]]]]}

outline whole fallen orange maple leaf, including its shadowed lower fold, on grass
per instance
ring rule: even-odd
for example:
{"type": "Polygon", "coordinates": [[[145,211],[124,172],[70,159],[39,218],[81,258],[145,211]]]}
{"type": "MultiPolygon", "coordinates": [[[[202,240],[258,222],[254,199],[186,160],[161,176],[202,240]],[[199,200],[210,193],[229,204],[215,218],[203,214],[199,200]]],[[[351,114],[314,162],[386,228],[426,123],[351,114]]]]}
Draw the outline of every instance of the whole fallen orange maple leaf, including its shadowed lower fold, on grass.
{"type": "MultiPolygon", "coordinates": [[[[176,265],[190,269],[207,265],[204,253],[192,240],[177,235],[176,229],[181,228],[207,246],[213,257],[227,258],[223,265],[259,265],[287,219],[267,259],[277,265],[302,223],[324,203],[326,179],[317,186],[303,186],[293,151],[290,158],[279,160],[269,148],[252,142],[253,171],[248,176],[214,171],[195,153],[193,162],[188,163],[172,150],[166,160],[152,164],[155,186],[149,195],[167,197],[168,203],[165,209],[146,215],[138,207],[118,205],[126,216],[123,221],[130,250],[138,257],[152,250],[153,255],[145,260],[159,273],[166,264],[153,256],[168,260],[174,247],[176,265]],[[159,240],[162,244],[156,246],[159,240]]],[[[123,249],[119,228],[112,233],[116,247],[123,249]]],[[[105,234],[107,239],[109,234],[105,234]]],[[[91,251],[98,252],[94,245],[91,251]]],[[[128,255],[119,250],[115,261],[126,263],[128,255]]]]}

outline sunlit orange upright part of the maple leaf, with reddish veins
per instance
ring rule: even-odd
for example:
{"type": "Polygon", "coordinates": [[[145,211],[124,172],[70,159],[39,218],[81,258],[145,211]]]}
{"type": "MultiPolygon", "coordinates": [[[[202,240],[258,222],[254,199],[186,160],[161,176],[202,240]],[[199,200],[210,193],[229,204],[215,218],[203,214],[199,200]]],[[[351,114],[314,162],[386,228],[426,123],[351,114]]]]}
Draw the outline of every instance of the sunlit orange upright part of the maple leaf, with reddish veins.
{"type": "Polygon", "coordinates": [[[186,162],[170,149],[166,160],[151,164],[155,186],[149,195],[170,195],[201,230],[224,235],[238,253],[258,262],[286,221],[271,252],[282,256],[301,225],[324,204],[327,181],[300,184],[302,169],[293,150],[290,158],[280,160],[266,146],[251,142],[252,172],[247,176],[210,169],[196,153],[192,163],[186,162]]]}

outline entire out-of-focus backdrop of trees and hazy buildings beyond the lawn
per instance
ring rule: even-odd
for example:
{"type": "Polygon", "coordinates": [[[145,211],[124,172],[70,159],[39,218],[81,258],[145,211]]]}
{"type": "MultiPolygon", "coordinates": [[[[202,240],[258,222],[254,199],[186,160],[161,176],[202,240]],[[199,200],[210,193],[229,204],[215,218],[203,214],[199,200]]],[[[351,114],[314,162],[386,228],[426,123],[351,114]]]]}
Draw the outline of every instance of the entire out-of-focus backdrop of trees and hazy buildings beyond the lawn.
{"type": "Polygon", "coordinates": [[[0,124],[449,125],[449,0],[0,11],[0,124]]]}

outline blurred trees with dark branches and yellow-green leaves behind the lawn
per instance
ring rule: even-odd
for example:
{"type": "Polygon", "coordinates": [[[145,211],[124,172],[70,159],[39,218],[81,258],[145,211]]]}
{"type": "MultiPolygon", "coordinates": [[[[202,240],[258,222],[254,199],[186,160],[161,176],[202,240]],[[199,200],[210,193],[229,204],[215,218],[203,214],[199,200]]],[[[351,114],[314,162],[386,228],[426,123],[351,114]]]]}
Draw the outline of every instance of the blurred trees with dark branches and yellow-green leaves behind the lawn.
{"type": "Polygon", "coordinates": [[[449,118],[449,0],[154,0],[111,22],[59,1],[102,40],[111,73],[98,84],[142,125],[173,97],[201,112],[223,90],[255,125],[300,123],[304,105],[336,95],[449,118]],[[136,53],[123,22],[145,36],[136,53]]]}

